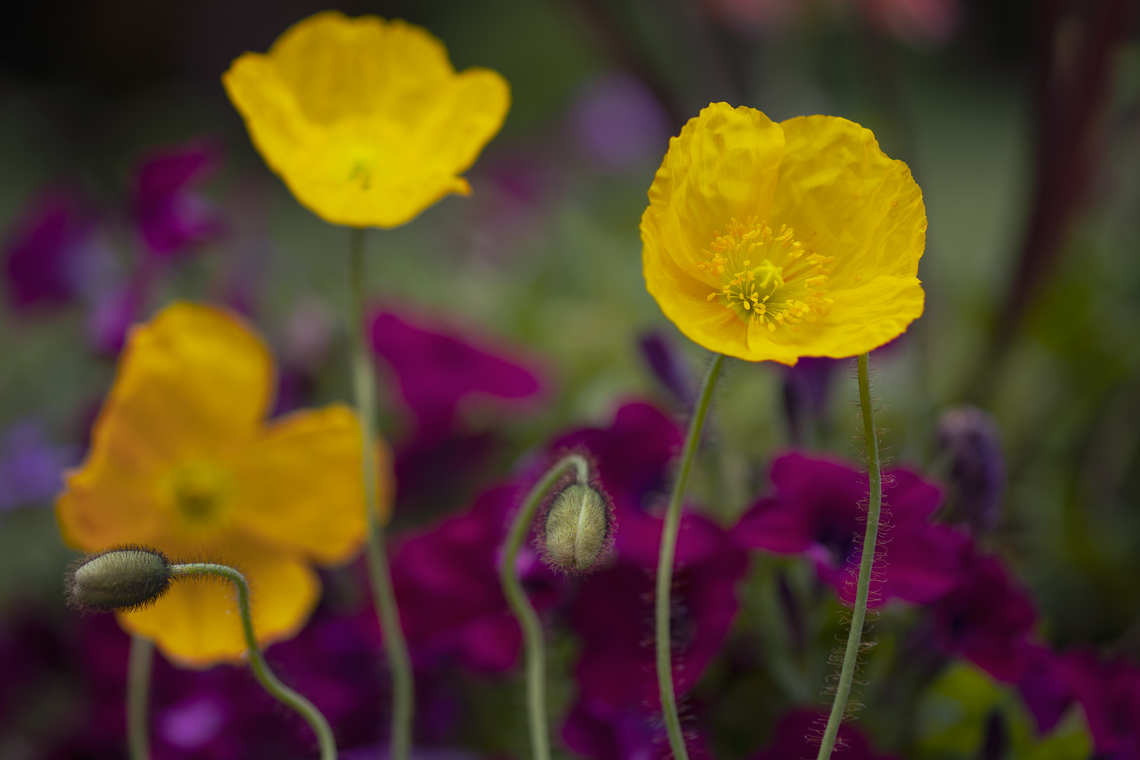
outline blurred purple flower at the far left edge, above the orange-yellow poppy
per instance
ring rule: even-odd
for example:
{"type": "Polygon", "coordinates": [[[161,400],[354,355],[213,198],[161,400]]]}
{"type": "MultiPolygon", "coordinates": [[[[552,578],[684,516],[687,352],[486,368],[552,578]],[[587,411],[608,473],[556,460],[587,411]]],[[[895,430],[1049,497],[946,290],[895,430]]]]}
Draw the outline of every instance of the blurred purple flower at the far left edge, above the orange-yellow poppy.
{"type": "Polygon", "coordinates": [[[11,304],[28,310],[75,302],[81,260],[95,245],[95,214],[76,190],[51,187],[36,195],[3,246],[11,304]]]}

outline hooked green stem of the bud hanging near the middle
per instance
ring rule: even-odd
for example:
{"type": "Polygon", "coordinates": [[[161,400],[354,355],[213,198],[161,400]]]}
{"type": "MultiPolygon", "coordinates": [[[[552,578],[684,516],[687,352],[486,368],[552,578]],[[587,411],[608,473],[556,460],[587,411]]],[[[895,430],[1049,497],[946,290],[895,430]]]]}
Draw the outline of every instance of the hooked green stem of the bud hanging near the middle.
{"type": "Polygon", "coordinates": [[[589,465],[577,453],[563,457],[547,469],[542,480],[530,489],[522,507],[515,514],[506,544],[503,547],[502,564],[499,564],[499,583],[503,585],[506,600],[522,627],[522,638],[527,649],[527,714],[530,720],[530,751],[535,760],[549,760],[551,758],[551,732],[546,721],[546,652],[543,627],[538,622],[535,607],[527,598],[527,593],[522,590],[522,583],[519,581],[516,558],[543,497],[571,467],[578,471],[579,483],[589,480],[589,465]]]}

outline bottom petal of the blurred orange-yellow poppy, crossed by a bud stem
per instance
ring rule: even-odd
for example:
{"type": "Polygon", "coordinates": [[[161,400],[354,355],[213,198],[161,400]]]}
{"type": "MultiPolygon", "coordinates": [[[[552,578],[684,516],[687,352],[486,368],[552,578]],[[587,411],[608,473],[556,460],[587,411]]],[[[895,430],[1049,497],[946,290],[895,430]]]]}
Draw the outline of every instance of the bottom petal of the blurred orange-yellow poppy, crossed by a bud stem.
{"type": "MultiPolygon", "coordinates": [[[[296,634],[320,597],[320,580],[304,562],[256,539],[233,534],[217,546],[187,547],[184,554],[192,561],[220,561],[245,574],[253,630],[262,645],[296,634]]],[[[117,616],[128,631],[153,639],[170,660],[185,665],[237,662],[245,652],[237,591],[228,581],[180,580],[154,605],[117,616]]]]}

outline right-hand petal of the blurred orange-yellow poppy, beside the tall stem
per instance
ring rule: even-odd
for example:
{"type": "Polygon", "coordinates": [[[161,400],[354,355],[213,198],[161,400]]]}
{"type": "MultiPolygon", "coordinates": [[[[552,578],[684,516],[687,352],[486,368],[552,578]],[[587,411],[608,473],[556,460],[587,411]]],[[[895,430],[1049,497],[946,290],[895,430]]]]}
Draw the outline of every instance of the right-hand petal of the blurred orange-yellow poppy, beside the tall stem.
{"type": "Polygon", "coordinates": [[[360,425],[348,407],[276,422],[235,472],[241,530],[323,563],[347,559],[364,541],[360,425]]]}

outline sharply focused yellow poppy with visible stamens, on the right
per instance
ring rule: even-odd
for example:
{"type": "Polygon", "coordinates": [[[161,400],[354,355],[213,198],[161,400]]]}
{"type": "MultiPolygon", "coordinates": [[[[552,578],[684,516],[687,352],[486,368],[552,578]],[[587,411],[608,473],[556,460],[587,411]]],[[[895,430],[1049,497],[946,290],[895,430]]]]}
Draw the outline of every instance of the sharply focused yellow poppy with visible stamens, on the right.
{"type": "Polygon", "coordinates": [[[853,357],[922,314],[922,191],[846,119],[710,104],[669,141],[649,199],[646,287],[710,351],[853,357]]]}

